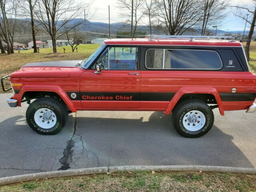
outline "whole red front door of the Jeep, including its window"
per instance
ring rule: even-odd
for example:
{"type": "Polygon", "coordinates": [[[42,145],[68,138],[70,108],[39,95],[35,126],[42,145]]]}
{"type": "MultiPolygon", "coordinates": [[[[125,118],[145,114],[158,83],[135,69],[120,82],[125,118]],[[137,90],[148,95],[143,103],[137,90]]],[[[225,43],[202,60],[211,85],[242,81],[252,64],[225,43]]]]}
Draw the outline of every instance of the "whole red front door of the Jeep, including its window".
{"type": "Polygon", "coordinates": [[[139,108],[139,46],[110,46],[80,76],[82,108],[139,108]],[[96,73],[96,65],[100,73],[96,73]]]}

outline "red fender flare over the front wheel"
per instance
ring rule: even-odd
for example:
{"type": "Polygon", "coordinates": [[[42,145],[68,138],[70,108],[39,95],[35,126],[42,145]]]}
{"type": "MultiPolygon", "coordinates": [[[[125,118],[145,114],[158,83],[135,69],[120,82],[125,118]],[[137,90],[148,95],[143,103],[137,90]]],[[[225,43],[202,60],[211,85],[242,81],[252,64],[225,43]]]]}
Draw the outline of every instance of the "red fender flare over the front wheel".
{"type": "Polygon", "coordinates": [[[60,98],[64,101],[64,103],[68,106],[68,108],[72,111],[72,112],[76,112],[76,107],[74,106],[74,104],[72,103],[72,101],[70,100],[70,98],[68,97],[68,95],[66,94],[66,92],[60,88],[59,86],[56,85],[24,85],[22,86],[22,88],[20,89],[20,92],[16,98],[16,95],[14,95],[14,99],[18,99],[18,106],[21,106],[21,100],[22,100],[22,96],[25,92],[41,92],[41,91],[45,91],[45,92],[54,92],[56,94],[58,94],[58,96],[60,96],[60,98]]]}

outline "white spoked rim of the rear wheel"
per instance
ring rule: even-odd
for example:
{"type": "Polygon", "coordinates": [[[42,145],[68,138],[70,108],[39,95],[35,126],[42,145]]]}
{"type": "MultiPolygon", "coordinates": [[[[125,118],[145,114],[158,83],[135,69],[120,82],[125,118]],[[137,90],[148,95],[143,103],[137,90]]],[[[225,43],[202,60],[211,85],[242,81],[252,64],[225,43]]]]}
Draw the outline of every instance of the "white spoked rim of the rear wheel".
{"type": "Polygon", "coordinates": [[[183,126],[189,131],[198,131],[203,128],[206,118],[200,111],[193,110],[186,113],[183,117],[183,126]]]}

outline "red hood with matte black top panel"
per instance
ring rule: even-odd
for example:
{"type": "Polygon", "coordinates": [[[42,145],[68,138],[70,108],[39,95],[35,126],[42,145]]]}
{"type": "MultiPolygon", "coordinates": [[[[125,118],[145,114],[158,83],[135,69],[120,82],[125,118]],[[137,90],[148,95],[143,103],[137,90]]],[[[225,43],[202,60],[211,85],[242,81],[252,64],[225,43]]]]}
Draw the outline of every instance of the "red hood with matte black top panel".
{"type": "Polygon", "coordinates": [[[70,71],[74,67],[80,66],[81,60],[70,61],[45,61],[28,63],[21,67],[20,70],[11,74],[11,78],[18,77],[52,77],[52,78],[68,78],[70,71]]]}

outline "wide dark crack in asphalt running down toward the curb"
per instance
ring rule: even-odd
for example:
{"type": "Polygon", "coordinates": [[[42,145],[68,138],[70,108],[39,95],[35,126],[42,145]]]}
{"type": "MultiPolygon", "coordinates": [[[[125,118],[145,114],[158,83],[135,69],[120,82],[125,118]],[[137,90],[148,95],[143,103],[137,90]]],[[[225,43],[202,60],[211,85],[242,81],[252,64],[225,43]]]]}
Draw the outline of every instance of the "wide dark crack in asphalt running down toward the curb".
{"type": "Polygon", "coordinates": [[[74,136],[76,135],[76,113],[74,119],[74,132],[72,138],[67,141],[66,148],[63,151],[63,157],[60,158],[59,162],[62,166],[58,170],[68,170],[70,168],[70,164],[72,164],[72,157],[74,150],[72,149],[75,146],[75,141],[73,140],[74,136]]]}

